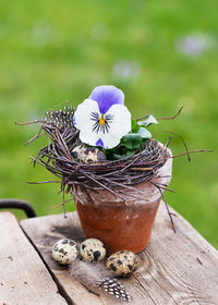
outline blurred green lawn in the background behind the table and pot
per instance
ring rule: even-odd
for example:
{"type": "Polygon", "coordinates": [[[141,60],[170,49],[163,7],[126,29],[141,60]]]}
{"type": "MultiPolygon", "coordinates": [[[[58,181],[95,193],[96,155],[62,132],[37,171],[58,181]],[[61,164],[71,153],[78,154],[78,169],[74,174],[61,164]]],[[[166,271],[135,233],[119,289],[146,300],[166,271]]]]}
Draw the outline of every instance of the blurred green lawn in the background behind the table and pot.
{"type": "MultiPolygon", "coordinates": [[[[46,139],[24,147],[38,126],[14,122],[43,118],[66,102],[76,106],[95,86],[113,84],[135,118],[172,115],[184,106],[177,120],[152,131],[173,131],[190,149],[214,149],[193,155],[190,163],[174,159],[170,187],[177,193],[166,197],[218,247],[217,9],[211,0],[1,1],[1,198],[25,199],[38,216],[62,211],[51,209],[61,202],[57,184],[26,184],[52,179],[28,159],[46,139]]],[[[164,143],[168,137],[157,135],[164,143]]],[[[177,138],[171,149],[184,150],[177,138]]]]}

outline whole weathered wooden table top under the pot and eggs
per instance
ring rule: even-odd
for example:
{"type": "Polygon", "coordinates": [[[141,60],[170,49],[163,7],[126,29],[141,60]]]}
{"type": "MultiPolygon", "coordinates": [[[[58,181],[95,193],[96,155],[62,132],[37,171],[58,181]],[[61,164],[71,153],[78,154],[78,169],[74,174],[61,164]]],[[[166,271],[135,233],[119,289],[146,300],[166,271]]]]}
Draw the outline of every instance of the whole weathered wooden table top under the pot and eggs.
{"type": "MultiPolygon", "coordinates": [[[[218,252],[175,212],[174,234],[160,206],[140,269],[122,280],[132,304],[218,304],[218,252]]],[[[0,213],[0,305],[121,304],[95,294],[51,259],[62,237],[83,241],[76,212],[25,219],[0,213]]],[[[123,304],[123,303],[122,303],[123,304]]]]}

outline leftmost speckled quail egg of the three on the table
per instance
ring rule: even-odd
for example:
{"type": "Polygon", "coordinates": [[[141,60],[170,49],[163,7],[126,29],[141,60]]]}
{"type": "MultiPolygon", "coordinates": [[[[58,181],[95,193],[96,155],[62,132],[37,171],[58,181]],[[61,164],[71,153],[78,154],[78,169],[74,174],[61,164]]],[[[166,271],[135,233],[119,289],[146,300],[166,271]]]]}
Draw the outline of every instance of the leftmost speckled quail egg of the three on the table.
{"type": "Polygon", "coordinates": [[[61,265],[70,264],[77,255],[76,243],[70,239],[60,240],[52,247],[52,258],[61,265]]]}

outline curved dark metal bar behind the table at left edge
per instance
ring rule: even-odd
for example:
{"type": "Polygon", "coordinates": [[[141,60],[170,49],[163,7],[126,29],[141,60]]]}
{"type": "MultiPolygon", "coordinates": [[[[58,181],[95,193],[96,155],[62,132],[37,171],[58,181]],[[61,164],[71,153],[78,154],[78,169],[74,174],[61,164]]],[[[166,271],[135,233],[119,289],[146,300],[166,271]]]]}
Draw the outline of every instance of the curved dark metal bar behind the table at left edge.
{"type": "Polygon", "coordinates": [[[20,199],[0,199],[0,209],[22,209],[28,218],[36,217],[34,208],[20,199]]]}

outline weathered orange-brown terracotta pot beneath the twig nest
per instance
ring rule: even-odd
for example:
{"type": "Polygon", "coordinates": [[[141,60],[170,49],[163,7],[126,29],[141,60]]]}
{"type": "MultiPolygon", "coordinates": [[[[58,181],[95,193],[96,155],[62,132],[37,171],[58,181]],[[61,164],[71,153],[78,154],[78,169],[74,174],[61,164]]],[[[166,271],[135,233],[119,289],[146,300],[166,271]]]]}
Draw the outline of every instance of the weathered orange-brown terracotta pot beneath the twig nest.
{"type": "MultiPolygon", "coordinates": [[[[170,149],[168,152],[171,155],[170,149]]],[[[154,181],[168,185],[171,168],[170,158],[158,170],[160,178],[154,181]]],[[[76,208],[85,237],[102,241],[108,254],[120,249],[138,253],[148,245],[161,195],[149,182],[136,184],[134,188],[136,193],[126,190],[125,203],[107,191],[90,192],[93,203],[80,194],[84,203],[77,202],[76,208]],[[142,199],[133,198],[135,194],[142,194],[142,199]]]]}

